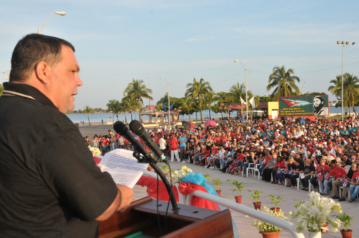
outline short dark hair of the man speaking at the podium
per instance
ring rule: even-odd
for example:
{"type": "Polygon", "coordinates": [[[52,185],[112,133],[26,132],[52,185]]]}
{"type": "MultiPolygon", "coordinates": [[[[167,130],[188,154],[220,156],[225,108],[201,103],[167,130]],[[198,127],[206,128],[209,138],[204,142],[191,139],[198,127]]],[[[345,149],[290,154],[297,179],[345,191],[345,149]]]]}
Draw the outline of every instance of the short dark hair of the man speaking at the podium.
{"type": "Polygon", "coordinates": [[[51,67],[56,66],[62,59],[62,45],[70,47],[75,52],[71,43],[57,37],[41,34],[24,36],[13,51],[9,82],[25,81],[41,61],[51,67]]]}

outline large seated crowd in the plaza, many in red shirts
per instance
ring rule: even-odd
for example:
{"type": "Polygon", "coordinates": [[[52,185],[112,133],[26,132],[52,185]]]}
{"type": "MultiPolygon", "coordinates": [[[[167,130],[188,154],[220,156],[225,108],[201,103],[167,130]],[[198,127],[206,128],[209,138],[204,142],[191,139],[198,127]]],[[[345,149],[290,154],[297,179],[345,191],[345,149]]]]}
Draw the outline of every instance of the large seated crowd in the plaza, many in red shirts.
{"type": "MultiPolygon", "coordinates": [[[[359,193],[358,124],[353,117],[344,121],[307,119],[305,123],[295,119],[227,120],[198,128],[179,128],[173,123],[147,133],[172,163],[176,159],[243,177],[248,176],[247,168],[256,168],[251,172],[259,173],[266,183],[297,189],[300,180],[302,190],[309,191],[312,184],[327,195],[330,189],[331,197],[339,201],[345,201],[349,188],[348,201],[352,202],[359,193]],[[343,187],[341,197],[339,187],[343,187]]],[[[95,135],[92,146],[101,148],[103,154],[115,148],[131,149],[126,139],[110,130],[108,135],[95,135]]]]}

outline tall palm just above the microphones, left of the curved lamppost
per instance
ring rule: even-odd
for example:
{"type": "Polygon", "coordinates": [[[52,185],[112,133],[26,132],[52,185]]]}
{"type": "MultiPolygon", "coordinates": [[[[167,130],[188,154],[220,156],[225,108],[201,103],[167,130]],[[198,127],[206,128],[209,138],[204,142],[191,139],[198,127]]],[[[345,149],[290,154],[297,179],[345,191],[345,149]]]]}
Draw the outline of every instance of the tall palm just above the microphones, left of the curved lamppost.
{"type": "Polygon", "coordinates": [[[141,118],[141,111],[142,111],[142,104],[143,100],[142,98],[153,100],[153,98],[149,95],[152,93],[151,89],[146,88],[146,84],[144,84],[143,80],[133,79],[132,82],[128,84],[127,88],[124,90],[124,96],[127,94],[127,96],[130,96],[131,99],[137,101],[138,109],[140,111],[139,113],[139,119],[140,122],[142,122],[141,118]]]}

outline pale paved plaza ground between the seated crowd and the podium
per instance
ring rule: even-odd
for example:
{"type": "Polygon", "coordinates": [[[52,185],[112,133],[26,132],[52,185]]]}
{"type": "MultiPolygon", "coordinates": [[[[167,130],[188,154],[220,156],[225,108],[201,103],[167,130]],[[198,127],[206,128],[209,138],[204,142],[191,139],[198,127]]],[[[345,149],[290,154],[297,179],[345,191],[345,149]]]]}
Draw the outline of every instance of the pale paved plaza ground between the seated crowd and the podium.
{"type": "MultiPolygon", "coordinates": [[[[113,128],[110,126],[81,126],[80,132],[83,136],[89,135],[90,139],[92,139],[94,134],[107,134],[108,130],[111,130],[113,132],[113,128]]],[[[296,202],[299,203],[299,201],[306,201],[309,199],[308,192],[304,192],[302,190],[297,189],[291,189],[287,188],[281,185],[275,185],[271,183],[265,183],[262,180],[258,180],[257,177],[253,178],[253,176],[250,176],[248,178],[243,178],[242,176],[234,176],[230,175],[228,173],[223,174],[222,172],[219,172],[218,170],[213,169],[207,169],[203,168],[203,166],[196,166],[193,164],[182,164],[182,163],[171,163],[172,169],[181,168],[183,165],[186,165],[187,167],[191,168],[194,173],[202,173],[202,174],[209,174],[211,175],[211,178],[220,178],[222,181],[226,181],[227,179],[236,179],[239,182],[244,181],[245,183],[248,183],[245,185],[245,190],[260,190],[263,193],[261,194],[260,201],[262,202],[262,208],[263,206],[266,207],[273,207],[271,204],[271,200],[268,197],[268,194],[273,195],[282,195],[284,197],[283,201],[284,203],[281,203],[280,208],[284,212],[289,212],[294,210],[294,205],[296,202]]],[[[210,185],[214,186],[211,182],[208,182],[210,185]]],[[[222,191],[221,197],[224,199],[228,199],[230,201],[235,202],[234,200],[234,193],[230,191],[232,187],[228,185],[226,182],[224,185],[220,185],[220,190],[222,191]]],[[[142,188],[138,185],[135,185],[134,187],[134,197],[133,200],[140,199],[147,195],[146,189],[142,188]]],[[[242,205],[253,208],[253,200],[247,198],[249,196],[249,192],[245,191],[242,193],[242,205]]],[[[346,199],[347,200],[347,199],[346,199]]],[[[336,200],[337,201],[337,200],[336,200]]],[[[352,227],[353,230],[353,238],[359,237],[359,207],[358,207],[358,199],[356,202],[349,203],[348,201],[340,202],[343,208],[343,212],[348,213],[349,216],[354,216],[356,219],[355,221],[352,221],[352,227]]],[[[244,214],[241,214],[237,211],[232,212],[232,217],[234,219],[234,222],[236,223],[237,230],[240,237],[246,237],[246,238],[261,238],[261,235],[258,233],[258,230],[251,226],[250,219],[245,218],[244,214]]],[[[333,213],[334,214],[334,213],[333,213]]],[[[282,232],[280,234],[280,237],[292,237],[288,232],[282,232]]],[[[307,237],[307,236],[305,236],[307,237]]],[[[331,230],[329,230],[328,234],[322,234],[323,238],[341,238],[342,235],[340,232],[334,233],[331,230]]]]}

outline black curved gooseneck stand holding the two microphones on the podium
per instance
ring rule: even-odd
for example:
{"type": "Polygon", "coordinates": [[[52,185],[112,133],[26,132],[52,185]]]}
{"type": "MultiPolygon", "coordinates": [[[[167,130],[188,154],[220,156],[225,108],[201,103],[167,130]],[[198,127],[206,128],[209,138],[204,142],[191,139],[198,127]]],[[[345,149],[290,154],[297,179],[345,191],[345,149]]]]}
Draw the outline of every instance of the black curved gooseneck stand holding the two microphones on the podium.
{"type": "MultiPolygon", "coordinates": [[[[150,164],[151,167],[157,172],[158,176],[162,179],[162,182],[164,183],[164,185],[166,186],[167,192],[170,195],[170,199],[171,199],[171,204],[172,204],[172,210],[179,210],[181,208],[179,208],[177,206],[177,202],[176,202],[176,198],[174,197],[173,191],[172,191],[172,187],[170,182],[168,181],[167,177],[165,176],[165,174],[163,173],[163,171],[157,166],[157,164],[153,163],[151,159],[149,159],[147,157],[147,155],[153,155],[154,153],[150,150],[150,152],[148,152],[146,155],[142,156],[140,155],[139,151],[137,149],[135,149],[135,151],[133,152],[133,156],[138,160],[139,163],[147,163],[150,164]]],[[[157,188],[158,189],[158,188],[157,188]]],[[[158,197],[157,197],[158,199],[158,197]]]]}

